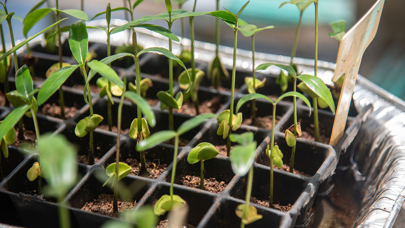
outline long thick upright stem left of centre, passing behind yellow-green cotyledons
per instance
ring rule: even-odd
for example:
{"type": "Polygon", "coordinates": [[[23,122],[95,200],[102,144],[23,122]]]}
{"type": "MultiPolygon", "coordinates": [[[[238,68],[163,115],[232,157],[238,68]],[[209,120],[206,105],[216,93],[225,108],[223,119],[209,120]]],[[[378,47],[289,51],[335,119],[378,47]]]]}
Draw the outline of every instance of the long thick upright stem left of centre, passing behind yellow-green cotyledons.
{"type": "MultiPolygon", "coordinates": [[[[139,67],[139,58],[137,57],[138,55],[138,49],[136,48],[138,46],[138,43],[136,41],[136,32],[132,32],[132,47],[134,49],[135,57],[135,74],[136,74],[136,94],[141,96],[141,68],[139,67]]],[[[138,119],[138,142],[139,142],[139,137],[142,135],[142,111],[141,107],[137,105],[137,110],[136,110],[136,115],[138,119]]],[[[145,151],[139,151],[141,155],[141,168],[139,170],[139,173],[145,173],[147,172],[146,168],[146,158],[145,158],[145,151]]]]}

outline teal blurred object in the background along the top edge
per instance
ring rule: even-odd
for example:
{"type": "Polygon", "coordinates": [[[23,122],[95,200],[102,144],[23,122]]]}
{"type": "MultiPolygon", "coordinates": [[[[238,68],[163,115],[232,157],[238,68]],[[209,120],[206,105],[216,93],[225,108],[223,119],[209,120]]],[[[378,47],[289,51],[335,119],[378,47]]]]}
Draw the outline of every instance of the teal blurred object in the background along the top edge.
{"type": "MultiPolygon", "coordinates": [[[[237,13],[247,0],[222,0],[221,5],[231,12],[237,13]]],[[[298,8],[287,4],[281,9],[284,0],[251,0],[241,14],[241,19],[248,23],[281,24],[296,26],[299,17],[298,8]]],[[[356,4],[353,0],[319,0],[319,23],[329,24],[337,20],[345,20],[350,28],[356,21],[356,4]]],[[[303,24],[314,23],[315,7],[309,6],[303,15],[303,24]]]]}

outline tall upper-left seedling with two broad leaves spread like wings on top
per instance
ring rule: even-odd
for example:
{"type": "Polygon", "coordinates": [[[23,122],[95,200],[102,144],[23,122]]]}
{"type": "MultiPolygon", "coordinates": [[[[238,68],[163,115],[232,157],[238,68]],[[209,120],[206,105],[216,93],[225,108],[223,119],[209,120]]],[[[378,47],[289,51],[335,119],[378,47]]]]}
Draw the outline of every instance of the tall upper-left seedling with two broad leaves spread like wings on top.
{"type": "MultiPolygon", "coordinates": [[[[87,17],[86,13],[77,9],[66,9],[66,10],[60,10],[59,9],[59,1],[55,0],[56,7],[55,8],[41,8],[41,9],[36,9],[40,6],[40,4],[35,5],[30,13],[27,14],[27,16],[24,18],[23,22],[23,35],[27,37],[28,32],[34,26],[40,19],[48,15],[49,13],[53,12],[55,13],[56,20],[60,20],[60,13],[66,13],[68,15],[71,15],[73,17],[76,17],[77,19],[81,20],[88,20],[89,18],[87,17]]],[[[55,35],[58,37],[58,55],[59,55],[59,66],[55,69],[61,69],[64,65],[62,61],[62,41],[60,39],[60,34],[61,32],[66,32],[68,31],[69,26],[65,27],[60,27],[60,25],[57,25],[55,35]]],[[[49,39],[49,37],[48,37],[49,39]]],[[[60,113],[61,116],[65,116],[65,111],[64,111],[64,97],[63,97],[63,90],[62,87],[59,88],[59,104],[60,104],[60,113]]]]}

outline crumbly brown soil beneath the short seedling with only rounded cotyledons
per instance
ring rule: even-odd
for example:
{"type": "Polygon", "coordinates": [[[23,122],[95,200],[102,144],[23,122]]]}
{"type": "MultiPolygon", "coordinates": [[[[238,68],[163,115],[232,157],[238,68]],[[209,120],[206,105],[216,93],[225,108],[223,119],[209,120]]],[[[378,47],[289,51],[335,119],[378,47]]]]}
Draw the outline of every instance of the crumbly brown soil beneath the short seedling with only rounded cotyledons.
{"type": "MultiPolygon", "coordinates": [[[[181,184],[187,187],[200,188],[200,176],[182,176],[181,184]]],[[[204,178],[204,190],[211,191],[213,193],[220,193],[226,188],[224,181],[217,181],[215,177],[204,178]]]]}

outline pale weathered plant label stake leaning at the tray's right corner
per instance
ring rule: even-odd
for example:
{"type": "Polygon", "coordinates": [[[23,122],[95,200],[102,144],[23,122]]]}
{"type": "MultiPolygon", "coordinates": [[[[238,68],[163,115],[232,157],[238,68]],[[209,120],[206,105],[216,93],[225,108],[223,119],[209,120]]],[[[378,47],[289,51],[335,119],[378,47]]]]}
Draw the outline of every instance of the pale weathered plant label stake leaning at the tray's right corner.
{"type": "Polygon", "coordinates": [[[336,82],[344,73],[346,75],[330,136],[329,144],[332,146],[337,144],[343,136],[361,59],[375,37],[383,7],[384,0],[377,0],[373,7],[343,36],[339,45],[335,75],[332,80],[336,82]]]}

